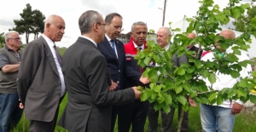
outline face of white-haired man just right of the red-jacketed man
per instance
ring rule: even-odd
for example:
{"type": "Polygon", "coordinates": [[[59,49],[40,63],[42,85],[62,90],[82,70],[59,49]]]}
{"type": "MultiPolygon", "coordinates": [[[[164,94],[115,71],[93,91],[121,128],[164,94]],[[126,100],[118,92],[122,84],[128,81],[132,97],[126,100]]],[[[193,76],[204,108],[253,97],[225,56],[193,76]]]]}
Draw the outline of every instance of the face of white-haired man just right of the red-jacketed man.
{"type": "Polygon", "coordinates": [[[156,42],[160,45],[161,48],[165,48],[168,44],[167,39],[168,35],[166,33],[166,30],[164,28],[160,28],[158,32],[156,33],[156,42]]]}

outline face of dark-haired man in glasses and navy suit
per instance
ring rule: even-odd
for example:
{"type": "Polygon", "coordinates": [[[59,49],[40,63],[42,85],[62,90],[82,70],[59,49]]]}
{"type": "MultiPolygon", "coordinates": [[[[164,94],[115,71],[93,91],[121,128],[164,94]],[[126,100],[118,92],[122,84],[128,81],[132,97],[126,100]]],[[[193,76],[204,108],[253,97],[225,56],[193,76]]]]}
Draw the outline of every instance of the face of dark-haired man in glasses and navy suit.
{"type": "Polygon", "coordinates": [[[111,39],[116,39],[117,37],[119,37],[122,26],[123,21],[121,20],[121,18],[119,18],[118,16],[114,16],[111,23],[106,26],[106,34],[111,39]]]}

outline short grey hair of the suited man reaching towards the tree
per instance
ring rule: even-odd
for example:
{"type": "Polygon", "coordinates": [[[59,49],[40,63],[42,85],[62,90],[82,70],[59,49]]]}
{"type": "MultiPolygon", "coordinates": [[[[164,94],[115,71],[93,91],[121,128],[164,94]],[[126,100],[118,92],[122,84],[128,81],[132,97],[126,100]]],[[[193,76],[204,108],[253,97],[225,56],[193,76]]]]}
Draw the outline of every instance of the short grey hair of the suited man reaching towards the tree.
{"type": "Polygon", "coordinates": [[[84,12],[79,18],[79,29],[81,34],[89,33],[92,30],[92,26],[97,23],[101,22],[102,14],[99,14],[97,11],[88,10],[84,12]]]}

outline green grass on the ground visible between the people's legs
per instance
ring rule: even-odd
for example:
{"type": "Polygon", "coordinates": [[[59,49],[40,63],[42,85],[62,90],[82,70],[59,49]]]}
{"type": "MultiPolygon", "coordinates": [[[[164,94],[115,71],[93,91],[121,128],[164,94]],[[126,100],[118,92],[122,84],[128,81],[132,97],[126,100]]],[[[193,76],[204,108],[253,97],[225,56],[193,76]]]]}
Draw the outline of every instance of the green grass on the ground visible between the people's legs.
{"type": "MultiPolygon", "coordinates": [[[[67,95],[62,100],[59,112],[59,118],[61,113],[63,112],[65,106],[67,104],[67,95]]],[[[23,115],[24,116],[24,115],[23,115]]],[[[236,115],[236,123],[233,129],[233,132],[254,132],[256,129],[256,111],[253,111],[253,108],[243,108],[240,114],[236,115]]],[[[20,123],[18,126],[13,129],[13,132],[23,132],[23,122],[25,121],[25,131],[28,132],[28,122],[24,117],[20,119],[20,123]]],[[[161,127],[161,119],[159,118],[159,131],[161,127]]],[[[177,112],[175,113],[175,117],[173,118],[173,131],[177,130],[177,112]]],[[[145,132],[148,132],[148,120],[144,126],[145,132]]],[[[117,132],[117,125],[115,126],[114,132],[117,132]]],[[[189,110],[189,132],[200,132],[201,131],[201,120],[199,113],[199,106],[191,107],[189,110]]],[[[60,126],[56,126],[55,132],[67,132],[66,129],[61,128],[60,126]]]]}

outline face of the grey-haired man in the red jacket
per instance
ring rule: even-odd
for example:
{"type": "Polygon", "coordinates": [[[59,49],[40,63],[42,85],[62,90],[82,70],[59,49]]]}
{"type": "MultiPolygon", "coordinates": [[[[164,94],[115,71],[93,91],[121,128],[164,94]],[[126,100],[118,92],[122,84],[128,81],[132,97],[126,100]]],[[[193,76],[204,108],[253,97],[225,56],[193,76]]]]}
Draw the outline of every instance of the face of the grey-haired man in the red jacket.
{"type": "Polygon", "coordinates": [[[134,30],[131,32],[131,37],[133,37],[133,41],[137,46],[143,46],[146,41],[147,34],[147,26],[136,25],[134,26],[134,30]]]}

